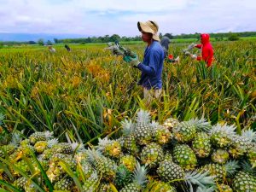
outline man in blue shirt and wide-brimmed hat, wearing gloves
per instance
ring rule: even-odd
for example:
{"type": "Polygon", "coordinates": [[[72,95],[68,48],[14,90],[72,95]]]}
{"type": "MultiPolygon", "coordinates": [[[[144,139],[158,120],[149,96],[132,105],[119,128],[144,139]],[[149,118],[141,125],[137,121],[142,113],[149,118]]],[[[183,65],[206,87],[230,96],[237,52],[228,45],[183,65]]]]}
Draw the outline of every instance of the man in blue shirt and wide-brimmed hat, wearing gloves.
{"type": "Polygon", "coordinates": [[[134,58],[125,56],[124,60],[142,72],[138,84],[143,86],[144,98],[149,104],[153,98],[159,98],[161,95],[165,53],[160,45],[160,38],[157,35],[159,27],[155,21],[137,22],[137,27],[142,32],[143,42],[148,44],[143,61],[139,61],[137,56],[134,58]]]}

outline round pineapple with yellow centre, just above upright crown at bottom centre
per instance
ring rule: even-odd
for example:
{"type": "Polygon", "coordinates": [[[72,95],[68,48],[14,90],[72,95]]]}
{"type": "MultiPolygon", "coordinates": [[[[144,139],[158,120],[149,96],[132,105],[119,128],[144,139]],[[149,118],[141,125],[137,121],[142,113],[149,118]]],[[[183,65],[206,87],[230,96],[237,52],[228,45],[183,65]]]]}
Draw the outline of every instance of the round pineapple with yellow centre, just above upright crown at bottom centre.
{"type": "Polygon", "coordinates": [[[142,163],[150,168],[158,166],[160,161],[164,159],[164,151],[157,143],[149,143],[141,153],[142,163]]]}

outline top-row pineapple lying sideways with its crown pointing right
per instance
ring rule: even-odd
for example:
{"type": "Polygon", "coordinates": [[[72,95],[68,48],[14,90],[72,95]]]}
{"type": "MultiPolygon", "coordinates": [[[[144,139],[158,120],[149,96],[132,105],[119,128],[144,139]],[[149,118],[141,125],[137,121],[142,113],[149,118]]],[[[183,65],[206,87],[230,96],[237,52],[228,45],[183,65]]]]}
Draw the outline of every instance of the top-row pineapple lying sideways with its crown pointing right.
{"type": "Polygon", "coordinates": [[[195,138],[196,131],[208,131],[212,126],[206,119],[190,119],[173,127],[173,135],[180,143],[188,143],[195,138]]]}

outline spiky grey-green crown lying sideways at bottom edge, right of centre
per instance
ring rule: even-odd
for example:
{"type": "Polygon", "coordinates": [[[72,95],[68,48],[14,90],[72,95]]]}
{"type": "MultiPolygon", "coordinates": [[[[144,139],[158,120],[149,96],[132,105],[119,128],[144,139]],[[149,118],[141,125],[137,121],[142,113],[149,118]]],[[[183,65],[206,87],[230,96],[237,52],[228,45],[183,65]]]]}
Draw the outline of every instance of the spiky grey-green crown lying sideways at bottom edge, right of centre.
{"type": "Polygon", "coordinates": [[[213,180],[214,177],[209,175],[209,172],[186,172],[185,173],[185,183],[189,184],[190,191],[193,192],[193,186],[192,184],[196,184],[202,189],[207,188],[206,186],[215,186],[215,182],[213,180]]]}

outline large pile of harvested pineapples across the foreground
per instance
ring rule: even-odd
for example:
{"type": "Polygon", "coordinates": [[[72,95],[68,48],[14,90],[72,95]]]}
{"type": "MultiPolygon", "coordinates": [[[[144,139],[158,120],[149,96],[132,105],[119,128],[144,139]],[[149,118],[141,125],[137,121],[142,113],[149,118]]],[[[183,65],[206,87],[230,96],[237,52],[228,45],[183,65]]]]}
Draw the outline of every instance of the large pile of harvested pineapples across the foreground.
{"type": "Polygon", "coordinates": [[[49,131],[27,139],[14,135],[0,147],[1,179],[27,192],[38,191],[37,184],[48,191],[47,181],[55,191],[256,191],[251,130],[237,135],[234,125],[211,125],[203,118],[170,118],[160,125],[144,110],[121,124],[120,137],[99,139],[90,148],[58,143],[49,131]],[[35,182],[42,169],[47,177],[35,182]]]}

